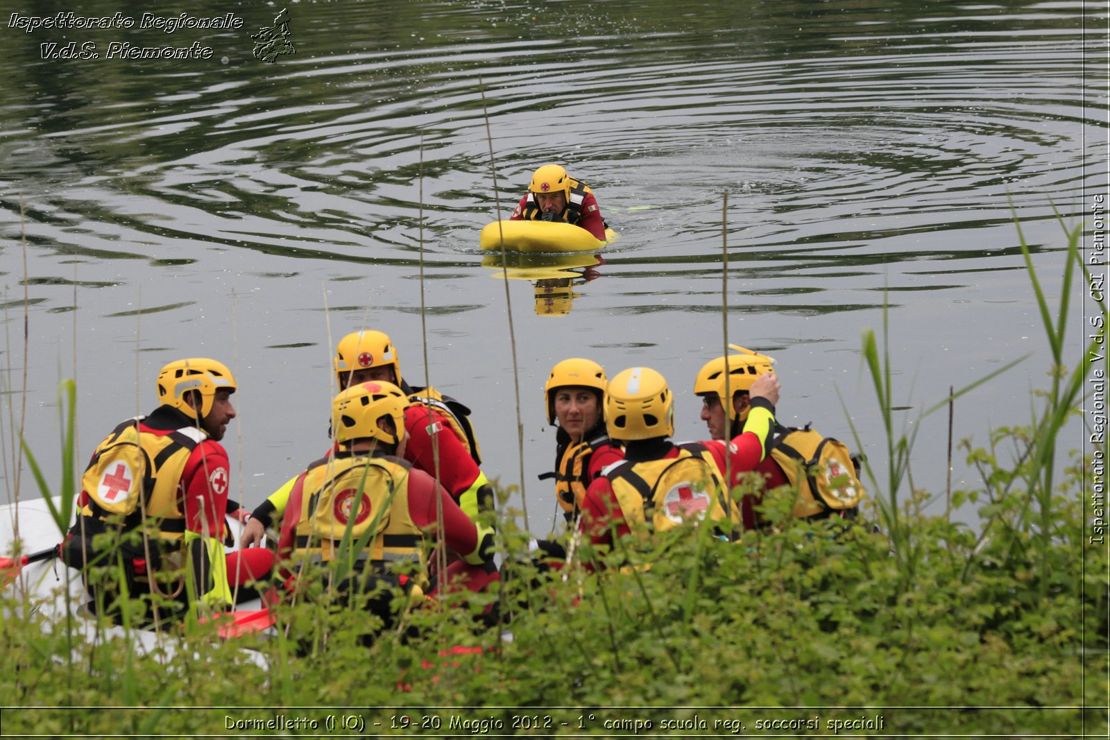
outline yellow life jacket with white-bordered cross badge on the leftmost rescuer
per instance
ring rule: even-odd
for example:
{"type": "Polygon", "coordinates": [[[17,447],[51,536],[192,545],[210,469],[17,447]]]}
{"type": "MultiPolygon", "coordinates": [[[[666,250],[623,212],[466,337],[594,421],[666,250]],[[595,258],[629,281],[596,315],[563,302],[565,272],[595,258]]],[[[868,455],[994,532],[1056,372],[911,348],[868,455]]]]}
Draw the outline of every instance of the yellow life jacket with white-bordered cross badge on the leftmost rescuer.
{"type": "Polygon", "coordinates": [[[140,430],[143,416],[121,423],[104,438],[81,476],[88,494],[84,516],[118,520],[124,529],[157,518],[162,534],[185,530],[179,484],[193,449],[206,435],[195,426],[169,434],[140,430]]]}

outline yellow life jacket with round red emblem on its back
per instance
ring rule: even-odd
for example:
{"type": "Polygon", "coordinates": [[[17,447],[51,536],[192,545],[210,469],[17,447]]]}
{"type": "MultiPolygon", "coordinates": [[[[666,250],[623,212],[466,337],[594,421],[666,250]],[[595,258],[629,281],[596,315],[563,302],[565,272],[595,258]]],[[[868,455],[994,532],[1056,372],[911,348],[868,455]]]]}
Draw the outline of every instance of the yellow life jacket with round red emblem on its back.
{"type": "Polygon", "coordinates": [[[396,457],[370,455],[329,456],[310,465],[294,557],[334,559],[353,517],[352,543],[374,528],[357,554],[360,560],[374,565],[418,561],[423,533],[408,513],[408,463],[396,457]]]}

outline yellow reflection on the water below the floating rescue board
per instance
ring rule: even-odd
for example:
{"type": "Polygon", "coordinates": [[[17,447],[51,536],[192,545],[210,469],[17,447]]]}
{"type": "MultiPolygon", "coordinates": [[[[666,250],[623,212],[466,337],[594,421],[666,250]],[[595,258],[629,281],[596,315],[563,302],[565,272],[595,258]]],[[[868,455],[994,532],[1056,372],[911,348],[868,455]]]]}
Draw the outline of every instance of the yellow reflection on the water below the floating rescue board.
{"type": "Polygon", "coordinates": [[[535,287],[537,316],[565,316],[582,294],[575,287],[601,277],[597,267],[605,264],[599,254],[529,254],[509,252],[503,262],[501,254],[487,254],[482,265],[494,270],[494,277],[526,280],[535,287]],[[502,267],[504,266],[504,270],[502,267]]]}

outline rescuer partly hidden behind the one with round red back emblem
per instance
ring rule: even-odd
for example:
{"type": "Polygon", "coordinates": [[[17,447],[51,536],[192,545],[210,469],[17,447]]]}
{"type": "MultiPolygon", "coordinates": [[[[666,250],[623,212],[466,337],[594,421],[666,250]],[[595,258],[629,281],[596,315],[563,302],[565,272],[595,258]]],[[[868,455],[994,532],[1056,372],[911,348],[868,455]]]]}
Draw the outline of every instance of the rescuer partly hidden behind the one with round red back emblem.
{"type": "MultiPolygon", "coordinates": [[[[362,331],[344,336],[336,345],[334,372],[340,391],[366,381],[400,387],[408,399],[403,457],[438,480],[472,519],[477,519],[480,510],[493,508],[493,488],[478,467],[480,450],[470,409],[435,388],[405,383],[397,348],[387,334],[362,331]]],[[[281,519],[294,480],[255,507],[243,528],[241,547],[261,544],[265,529],[281,519]]]]}

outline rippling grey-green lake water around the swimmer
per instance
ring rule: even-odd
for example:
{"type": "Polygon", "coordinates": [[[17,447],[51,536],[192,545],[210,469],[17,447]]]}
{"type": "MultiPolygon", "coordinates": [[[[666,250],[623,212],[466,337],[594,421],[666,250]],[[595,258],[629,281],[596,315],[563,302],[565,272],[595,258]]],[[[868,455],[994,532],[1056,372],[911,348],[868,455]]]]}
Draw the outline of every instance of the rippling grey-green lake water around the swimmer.
{"type": "MultiPolygon", "coordinates": [[[[138,24],[148,6],[64,10],[138,24]]],[[[334,342],[380,328],[410,379],[423,384],[426,349],[432,383],[474,407],[487,475],[519,484],[523,467],[544,530],[542,388],[558,359],[659,369],[678,394],[676,436],[704,436],[692,386],[723,347],[726,192],[728,338],[778,359],[785,422],[850,438],[842,398],[875,456],[858,349],[885,300],[901,405],[1032,352],[960,399],[956,436],[1028,419],[1047,358],[1011,203],[1058,296],[1053,209],[1077,223],[1104,191],[1107,19],[1092,14],[1104,8],[292,2],[295,53],[266,64],[250,34],[281,7],[157,13],[231,12],[241,29],[28,33],[11,13],[59,9],[4,0],[3,389],[17,414],[26,403],[48,465],[59,377],[79,379],[83,458],[153,407],[163,363],[211,355],[241,384],[226,442],[253,506],[326,445],[334,342]],[[42,59],[40,44],[70,41],[100,58],[42,59]],[[108,59],[112,42],[212,55],[108,59]],[[574,295],[553,308],[537,308],[535,272],[513,272],[514,361],[506,283],[477,234],[547,161],[594,186],[622,236],[588,282],[585,264],[562,265],[574,295]]],[[[1078,358],[1078,314],[1072,325],[1078,358]]],[[[940,416],[921,427],[915,479],[935,491],[940,416]]],[[[1070,446],[1081,438],[1077,426],[1070,446]]],[[[957,465],[955,485],[966,477],[957,465]]]]}

